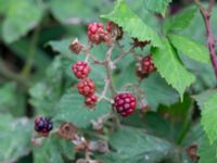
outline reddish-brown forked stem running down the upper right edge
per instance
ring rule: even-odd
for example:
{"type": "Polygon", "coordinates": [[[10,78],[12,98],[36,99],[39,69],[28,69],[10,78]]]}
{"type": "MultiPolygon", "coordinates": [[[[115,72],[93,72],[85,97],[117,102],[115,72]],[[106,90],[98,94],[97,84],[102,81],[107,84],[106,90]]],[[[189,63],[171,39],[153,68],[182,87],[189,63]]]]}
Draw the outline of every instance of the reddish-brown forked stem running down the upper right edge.
{"type": "Polygon", "coordinates": [[[208,46],[212,65],[213,65],[214,72],[215,72],[216,87],[217,87],[217,57],[216,57],[216,51],[215,51],[216,40],[215,40],[214,34],[212,30],[212,25],[210,25],[210,13],[212,13],[213,7],[215,4],[215,0],[210,0],[208,9],[205,9],[200,3],[200,0],[194,0],[194,2],[200,8],[201,14],[202,14],[204,23],[205,23],[207,46],[208,46]]]}

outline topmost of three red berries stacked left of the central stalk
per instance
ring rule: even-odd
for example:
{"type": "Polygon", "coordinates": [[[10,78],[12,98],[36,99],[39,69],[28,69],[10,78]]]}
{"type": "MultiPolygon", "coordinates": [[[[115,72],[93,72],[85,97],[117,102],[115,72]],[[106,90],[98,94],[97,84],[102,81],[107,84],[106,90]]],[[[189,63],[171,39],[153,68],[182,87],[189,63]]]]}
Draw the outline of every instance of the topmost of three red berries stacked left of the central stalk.
{"type": "Polygon", "coordinates": [[[77,78],[86,78],[88,74],[90,73],[90,67],[87,62],[78,61],[76,62],[73,67],[73,73],[77,78]]]}

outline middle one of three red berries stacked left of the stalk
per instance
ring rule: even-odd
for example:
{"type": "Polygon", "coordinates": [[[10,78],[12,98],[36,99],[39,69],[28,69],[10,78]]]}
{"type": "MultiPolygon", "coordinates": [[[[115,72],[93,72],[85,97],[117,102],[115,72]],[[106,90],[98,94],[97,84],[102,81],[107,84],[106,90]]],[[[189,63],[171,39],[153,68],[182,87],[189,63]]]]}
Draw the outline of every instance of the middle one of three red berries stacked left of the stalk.
{"type": "Polygon", "coordinates": [[[78,92],[85,97],[90,97],[95,91],[94,83],[89,78],[84,78],[77,84],[78,92]]]}

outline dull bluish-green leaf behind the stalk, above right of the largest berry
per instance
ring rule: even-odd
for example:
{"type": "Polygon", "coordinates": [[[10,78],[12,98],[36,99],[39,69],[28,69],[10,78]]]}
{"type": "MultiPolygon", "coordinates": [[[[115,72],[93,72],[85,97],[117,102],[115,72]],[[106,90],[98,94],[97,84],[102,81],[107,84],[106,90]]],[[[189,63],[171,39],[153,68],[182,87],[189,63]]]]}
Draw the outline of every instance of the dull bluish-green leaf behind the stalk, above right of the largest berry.
{"type": "MultiPolygon", "coordinates": [[[[126,84],[138,83],[138,77],[135,74],[136,63],[126,64],[125,70],[118,75],[115,80],[115,86],[119,90],[124,89],[126,84]]],[[[159,104],[171,105],[179,100],[179,95],[173,89],[158,73],[151,74],[142,80],[140,88],[144,89],[145,99],[151,106],[151,110],[156,111],[159,104]]]]}

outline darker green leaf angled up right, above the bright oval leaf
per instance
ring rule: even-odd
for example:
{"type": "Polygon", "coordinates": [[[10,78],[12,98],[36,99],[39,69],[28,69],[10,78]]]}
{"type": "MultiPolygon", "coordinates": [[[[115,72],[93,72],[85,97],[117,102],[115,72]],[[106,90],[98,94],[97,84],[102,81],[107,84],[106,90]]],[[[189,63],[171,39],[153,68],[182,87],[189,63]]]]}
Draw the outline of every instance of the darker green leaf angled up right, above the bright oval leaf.
{"type": "Polygon", "coordinates": [[[196,11],[195,8],[187,8],[175,16],[168,18],[164,24],[164,33],[180,32],[187,28],[194,18],[196,11]]]}

